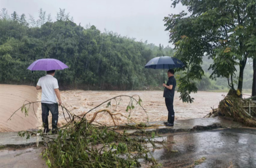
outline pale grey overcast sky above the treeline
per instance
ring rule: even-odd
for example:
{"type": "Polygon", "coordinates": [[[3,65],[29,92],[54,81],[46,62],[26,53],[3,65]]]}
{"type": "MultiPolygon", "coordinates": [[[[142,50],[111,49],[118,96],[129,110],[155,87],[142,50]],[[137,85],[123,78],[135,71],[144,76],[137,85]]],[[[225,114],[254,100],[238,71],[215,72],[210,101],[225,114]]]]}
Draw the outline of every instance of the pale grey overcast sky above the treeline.
{"type": "Polygon", "coordinates": [[[169,44],[169,35],[162,19],[168,14],[187,11],[185,6],[171,8],[171,0],[0,0],[0,8],[10,15],[16,11],[35,18],[43,8],[56,20],[59,8],[66,9],[76,24],[95,25],[100,31],[117,32],[121,36],[136,38],[148,43],[169,44]]]}

